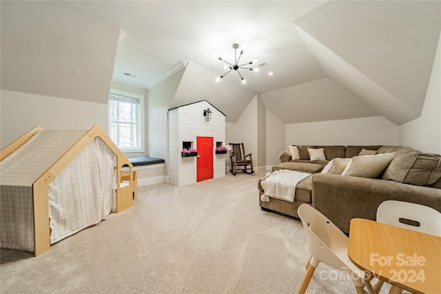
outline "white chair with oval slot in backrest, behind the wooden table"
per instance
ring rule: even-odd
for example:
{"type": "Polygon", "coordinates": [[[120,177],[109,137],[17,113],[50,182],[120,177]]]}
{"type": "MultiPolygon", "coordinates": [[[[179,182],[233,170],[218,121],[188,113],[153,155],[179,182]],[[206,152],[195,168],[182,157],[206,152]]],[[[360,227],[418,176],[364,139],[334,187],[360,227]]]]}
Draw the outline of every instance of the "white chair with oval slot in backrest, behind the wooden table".
{"type": "MultiPolygon", "coordinates": [[[[391,224],[421,233],[441,236],[441,213],[431,207],[398,200],[386,200],[377,209],[377,222],[391,224]]],[[[379,292],[383,281],[373,288],[379,292]]],[[[398,286],[391,286],[389,293],[401,293],[398,286]]]]}

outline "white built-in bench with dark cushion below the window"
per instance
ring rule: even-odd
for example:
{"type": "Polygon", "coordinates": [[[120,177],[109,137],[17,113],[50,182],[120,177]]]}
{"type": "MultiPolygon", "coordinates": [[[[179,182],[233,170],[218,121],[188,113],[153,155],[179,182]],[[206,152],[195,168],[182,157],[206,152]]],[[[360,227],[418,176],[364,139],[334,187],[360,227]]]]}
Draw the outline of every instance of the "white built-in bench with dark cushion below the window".
{"type": "Polygon", "coordinates": [[[168,182],[164,176],[164,162],[161,158],[150,156],[129,158],[136,171],[138,187],[168,182]]]}

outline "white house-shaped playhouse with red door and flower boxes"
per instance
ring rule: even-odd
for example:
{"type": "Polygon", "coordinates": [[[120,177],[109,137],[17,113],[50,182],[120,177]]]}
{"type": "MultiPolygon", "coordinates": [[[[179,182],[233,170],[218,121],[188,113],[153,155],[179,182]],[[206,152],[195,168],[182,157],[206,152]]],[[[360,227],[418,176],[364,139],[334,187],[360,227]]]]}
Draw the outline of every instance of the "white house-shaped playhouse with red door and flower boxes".
{"type": "Polygon", "coordinates": [[[225,114],[208,101],[198,101],[168,111],[169,180],[183,186],[225,176],[225,114]],[[183,152],[183,149],[197,150],[183,152]]]}

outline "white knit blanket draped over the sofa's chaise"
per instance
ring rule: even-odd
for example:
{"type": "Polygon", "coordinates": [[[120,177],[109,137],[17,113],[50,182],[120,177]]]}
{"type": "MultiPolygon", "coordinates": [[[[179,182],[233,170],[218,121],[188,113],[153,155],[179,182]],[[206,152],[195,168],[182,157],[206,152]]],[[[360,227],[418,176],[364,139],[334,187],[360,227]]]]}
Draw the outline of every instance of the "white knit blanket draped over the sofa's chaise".
{"type": "Polygon", "coordinates": [[[267,173],[265,180],[260,182],[265,193],[260,196],[260,200],[269,202],[269,197],[294,202],[296,196],[296,186],[300,180],[303,180],[307,176],[311,176],[308,173],[302,173],[300,171],[290,171],[289,169],[281,169],[280,171],[274,171],[272,174],[267,173]]]}

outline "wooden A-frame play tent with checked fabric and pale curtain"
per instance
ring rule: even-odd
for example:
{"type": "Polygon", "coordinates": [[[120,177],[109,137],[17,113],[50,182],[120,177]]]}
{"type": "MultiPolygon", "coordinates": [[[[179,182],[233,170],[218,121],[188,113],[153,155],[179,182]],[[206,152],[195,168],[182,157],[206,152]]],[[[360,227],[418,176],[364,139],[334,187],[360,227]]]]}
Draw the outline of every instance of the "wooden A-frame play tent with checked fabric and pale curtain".
{"type": "Polygon", "coordinates": [[[34,127],[0,151],[1,248],[37,256],[50,244],[132,206],[136,171],[95,125],[34,127]]]}

